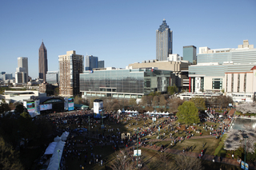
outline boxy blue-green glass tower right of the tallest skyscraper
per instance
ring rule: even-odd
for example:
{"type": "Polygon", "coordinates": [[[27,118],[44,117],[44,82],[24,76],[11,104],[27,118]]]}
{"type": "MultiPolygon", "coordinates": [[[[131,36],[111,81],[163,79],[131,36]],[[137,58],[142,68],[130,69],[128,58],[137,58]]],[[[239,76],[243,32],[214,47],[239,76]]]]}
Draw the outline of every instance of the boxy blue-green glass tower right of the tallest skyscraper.
{"type": "Polygon", "coordinates": [[[193,65],[196,65],[197,47],[194,45],[183,46],[183,60],[190,61],[193,65]]]}

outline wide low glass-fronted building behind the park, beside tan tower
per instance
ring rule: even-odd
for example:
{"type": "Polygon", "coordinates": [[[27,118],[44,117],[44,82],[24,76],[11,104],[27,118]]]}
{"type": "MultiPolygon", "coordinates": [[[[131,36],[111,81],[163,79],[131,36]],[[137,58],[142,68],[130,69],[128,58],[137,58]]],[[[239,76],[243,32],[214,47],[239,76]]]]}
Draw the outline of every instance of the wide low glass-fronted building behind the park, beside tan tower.
{"type": "Polygon", "coordinates": [[[141,98],[166,92],[170,85],[175,85],[175,75],[168,70],[106,69],[80,74],[80,92],[85,97],[141,98]]]}

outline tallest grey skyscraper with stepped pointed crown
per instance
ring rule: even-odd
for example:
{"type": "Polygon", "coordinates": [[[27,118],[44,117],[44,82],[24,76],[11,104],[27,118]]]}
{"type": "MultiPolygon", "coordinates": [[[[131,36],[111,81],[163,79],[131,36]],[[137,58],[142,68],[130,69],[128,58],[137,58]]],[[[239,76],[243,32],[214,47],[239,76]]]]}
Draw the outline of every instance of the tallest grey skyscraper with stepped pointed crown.
{"type": "Polygon", "coordinates": [[[173,53],[173,31],[162,21],[162,25],[156,30],[156,59],[167,61],[169,54],[173,53]]]}

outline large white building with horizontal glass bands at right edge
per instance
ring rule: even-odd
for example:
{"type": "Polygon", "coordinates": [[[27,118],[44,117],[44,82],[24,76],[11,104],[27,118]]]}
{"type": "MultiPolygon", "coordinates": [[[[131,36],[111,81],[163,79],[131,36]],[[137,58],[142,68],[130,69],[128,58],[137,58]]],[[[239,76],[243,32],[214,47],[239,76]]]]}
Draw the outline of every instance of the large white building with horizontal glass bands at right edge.
{"type": "MultiPolygon", "coordinates": [[[[222,90],[228,92],[226,73],[250,72],[250,69],[256,65],[256,49],[254,45],[249,45],[248,40],[244,40],[237,49],[199,47],[197,61],[197,65],[189,66],[189,92],[219,93],[222,90]]],[[[250,89],[250,85],[248,88],[250,89]]]]}

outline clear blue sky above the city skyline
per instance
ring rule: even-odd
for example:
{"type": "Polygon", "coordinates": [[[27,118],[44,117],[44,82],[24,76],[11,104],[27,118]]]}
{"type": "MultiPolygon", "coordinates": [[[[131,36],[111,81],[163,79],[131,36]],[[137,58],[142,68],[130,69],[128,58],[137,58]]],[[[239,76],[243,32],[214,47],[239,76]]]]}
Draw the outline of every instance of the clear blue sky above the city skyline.
{"type": "Polygon", "coordinates": [[[248,39],[256,48],[254,0],[16,0],[0,2],[0,72],[15,73],[28,57],[38,77],[38,49],[48,51],[48,70],[68,50],[94,55],[106,67],[155,59],[155,31],[162,20],[173,30],[173,53],[184,45],[237,48],[248,39]]]}

